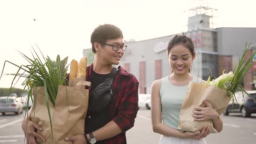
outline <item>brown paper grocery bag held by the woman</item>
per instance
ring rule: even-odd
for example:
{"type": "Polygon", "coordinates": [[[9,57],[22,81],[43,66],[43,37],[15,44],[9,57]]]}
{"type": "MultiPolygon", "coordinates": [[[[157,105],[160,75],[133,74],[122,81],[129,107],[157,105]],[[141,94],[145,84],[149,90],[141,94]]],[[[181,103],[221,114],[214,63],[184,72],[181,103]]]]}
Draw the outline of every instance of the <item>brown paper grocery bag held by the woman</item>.
{"type": "Polygon", "coordinates": [[[226,110],[231,98],[226,94],[226,91],[217,88],[213,85],[204,83],[190,82],[186,97],[181,106],[179,126],[178,128],[183,131],[201,131],[203,126],[210,126],[210,133],[217,133],[213,128],[213,122],[209,121],[194,121],[193,109],[195,106],[206,107],[203,100],[206,99],[212,107],[218,112],[219,115],[226,110]]]}

